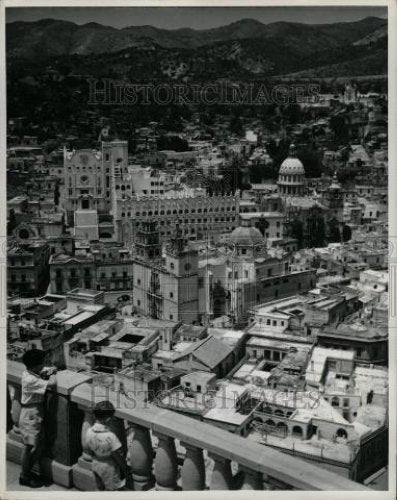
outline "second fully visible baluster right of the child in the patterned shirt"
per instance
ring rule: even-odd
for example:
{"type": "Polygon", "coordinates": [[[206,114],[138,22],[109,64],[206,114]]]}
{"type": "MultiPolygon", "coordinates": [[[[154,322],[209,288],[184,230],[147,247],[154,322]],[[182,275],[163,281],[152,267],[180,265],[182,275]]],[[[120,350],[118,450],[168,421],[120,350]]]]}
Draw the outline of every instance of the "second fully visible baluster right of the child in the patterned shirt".
{"type": "Polygon", "coordinates": [[[178,460],[176,455],[175,441],[173,438],[156,434],[159,440],[154,461],[154,475],[156,477],[156,490],[176,490],[176,479],[178,474],[178,460]]]}

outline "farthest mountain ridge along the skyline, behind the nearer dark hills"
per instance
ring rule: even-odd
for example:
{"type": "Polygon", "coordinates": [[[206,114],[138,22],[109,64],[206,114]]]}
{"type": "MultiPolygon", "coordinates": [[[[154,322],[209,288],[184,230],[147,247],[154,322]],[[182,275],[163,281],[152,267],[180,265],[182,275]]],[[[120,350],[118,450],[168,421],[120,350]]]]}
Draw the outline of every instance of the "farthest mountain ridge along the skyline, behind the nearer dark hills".
{"type": "Polygon", "coordinates": [[[154,43],[169,49],[197,49],[236,40],[284,39],[287,45],[305,45],[307,50],[339,47],[359,42],[371,33],[387,29],[387,20],[367,17],[360,21],[334,24],[275,22],[263,24],[242,19],[226,26],[197,30],[160,29],[153,26],[114,28],[98,23],[78,25],[70,21],[42,19],[15,21],[6,25],[8,57],[57,56],[118,52],[137,44],[154,43]]]}

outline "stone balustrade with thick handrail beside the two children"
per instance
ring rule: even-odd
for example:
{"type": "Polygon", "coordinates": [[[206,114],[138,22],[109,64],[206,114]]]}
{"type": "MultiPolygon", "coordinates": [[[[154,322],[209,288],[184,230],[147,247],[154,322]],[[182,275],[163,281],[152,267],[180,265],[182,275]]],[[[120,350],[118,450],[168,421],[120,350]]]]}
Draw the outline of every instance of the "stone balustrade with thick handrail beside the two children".
{"type": "MultiPolygon", "coordinates": [[[[20,464],[18,428],[23,365],[9,361],[7,384],[13,399],[7,459],[20,464]]],[[[92,408],[109,399],[116,408],[113,430],[123,444],[136,491],[173,490],[340,490],[370,491],[325,469],[143,399],[96,386],[89,375],[68,370],[57,375],[48,395],[45,468],[59,489],[95,491],[85,433],[92,408]]],[[[11,468],[10,468],[11,471],[11,468]]],[[[13,466],[15,475],[15,467],[13,466]]],[[[10,472],[10,474],[12,471],[10,472]]]]}

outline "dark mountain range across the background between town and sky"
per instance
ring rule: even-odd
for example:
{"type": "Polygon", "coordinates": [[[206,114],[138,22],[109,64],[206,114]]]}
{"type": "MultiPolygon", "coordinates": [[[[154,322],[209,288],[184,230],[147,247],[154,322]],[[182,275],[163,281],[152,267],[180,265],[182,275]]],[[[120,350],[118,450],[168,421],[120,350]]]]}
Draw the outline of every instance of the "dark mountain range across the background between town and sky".
{"type": "Polygon", "coordinates": [[[6,49],[11,69],[22,61],[38,68],[43,63],[56,68],[61,62],[72,73],[104,76],[106,69],[122,78],[136,68],[145,78],[171,79],[300,71],[316,76],[316,68],[322,76],[337,75],[338,68],[343,73],[338,76],[386,74],[387,20],[314,25],[242,19],[206,30],[166,30],[43,19],[8,23],[6,49]]]}

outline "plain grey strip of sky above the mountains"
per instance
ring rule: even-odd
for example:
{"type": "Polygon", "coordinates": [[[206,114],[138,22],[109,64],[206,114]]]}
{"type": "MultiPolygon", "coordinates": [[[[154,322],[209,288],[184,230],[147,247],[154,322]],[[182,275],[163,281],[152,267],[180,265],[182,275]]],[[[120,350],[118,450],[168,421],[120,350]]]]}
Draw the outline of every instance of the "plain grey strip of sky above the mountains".
{"type": "Polygon", "coordinates": [[[76,24],[96,22],[116,28],[152,25],[158,28],[207,29],[244,18],[264,24],[293,21],[310,24],[387,17],[385,7],[21,7],[7,8],[6,20],[62,19],[76,24]]]}

